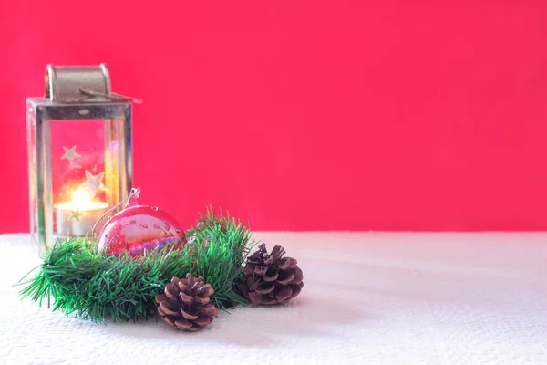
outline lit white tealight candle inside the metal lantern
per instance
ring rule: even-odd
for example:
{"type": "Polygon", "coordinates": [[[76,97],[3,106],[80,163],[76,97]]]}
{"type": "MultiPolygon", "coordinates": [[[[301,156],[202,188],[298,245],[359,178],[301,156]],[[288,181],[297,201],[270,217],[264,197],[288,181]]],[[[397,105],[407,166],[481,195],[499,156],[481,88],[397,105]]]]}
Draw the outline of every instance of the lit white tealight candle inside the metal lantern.
{"type": "Polygon", "coordinates": [[[107,212],[108,203],[94,201],[91,193],[78,188],[72,193],[71,201],[57,203],[54,208],[57,214],[57,235],[84,236],[91,234],[93,225],[107,212]]]}

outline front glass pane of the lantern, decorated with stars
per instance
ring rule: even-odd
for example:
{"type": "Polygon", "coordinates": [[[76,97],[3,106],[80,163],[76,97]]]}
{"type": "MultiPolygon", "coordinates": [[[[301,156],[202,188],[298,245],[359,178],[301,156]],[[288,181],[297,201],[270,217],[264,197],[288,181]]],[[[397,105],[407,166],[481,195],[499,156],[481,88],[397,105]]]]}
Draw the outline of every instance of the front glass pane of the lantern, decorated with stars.
{"type": "Polygon", "coordinates": [[[91,234],[108,211],[105,120],[51,120],[49,168],[54,239],[91,234]]]}

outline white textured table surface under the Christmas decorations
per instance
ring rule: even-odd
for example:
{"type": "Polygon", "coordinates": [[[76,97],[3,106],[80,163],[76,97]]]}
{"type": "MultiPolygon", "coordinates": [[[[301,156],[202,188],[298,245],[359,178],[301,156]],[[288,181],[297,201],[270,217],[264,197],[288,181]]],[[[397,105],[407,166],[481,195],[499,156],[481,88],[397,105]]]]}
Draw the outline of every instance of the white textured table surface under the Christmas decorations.
{"type": "Polygon", "coordinates": [[[0,235],[0,363],[547,364],[547,234],[255,237],[298,259],[300,297],[181,333],[20,301],[40,261],[28,235],[0,235]]]}

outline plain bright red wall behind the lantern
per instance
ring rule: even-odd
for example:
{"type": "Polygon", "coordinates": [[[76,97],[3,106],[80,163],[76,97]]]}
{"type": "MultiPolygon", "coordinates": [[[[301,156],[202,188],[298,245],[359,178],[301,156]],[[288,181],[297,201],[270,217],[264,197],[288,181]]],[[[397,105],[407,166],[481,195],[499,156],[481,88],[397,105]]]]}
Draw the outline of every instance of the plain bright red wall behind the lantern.
{"type": "Polygon", "coordinates": [[[25,98],[108,63],[135,183],[190,224],[547,228],[547,3],[4,1],[0,232],[28,230],[25,98]]]}

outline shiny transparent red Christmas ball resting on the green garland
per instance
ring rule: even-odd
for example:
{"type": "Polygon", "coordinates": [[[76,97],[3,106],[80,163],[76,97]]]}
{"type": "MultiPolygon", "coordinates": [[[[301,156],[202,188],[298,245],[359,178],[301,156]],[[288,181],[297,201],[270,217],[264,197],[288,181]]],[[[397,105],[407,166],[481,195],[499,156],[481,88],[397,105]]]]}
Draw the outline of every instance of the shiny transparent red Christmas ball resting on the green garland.
{"type": "Polygon", "coordinates": [[[105,255],[144,255],[165,246],[183,247],[184,231],[157,206],[139,204],[139,189],[131,190],[126,207],[109,218],[98,235],[98,251],[105,255]]]}

